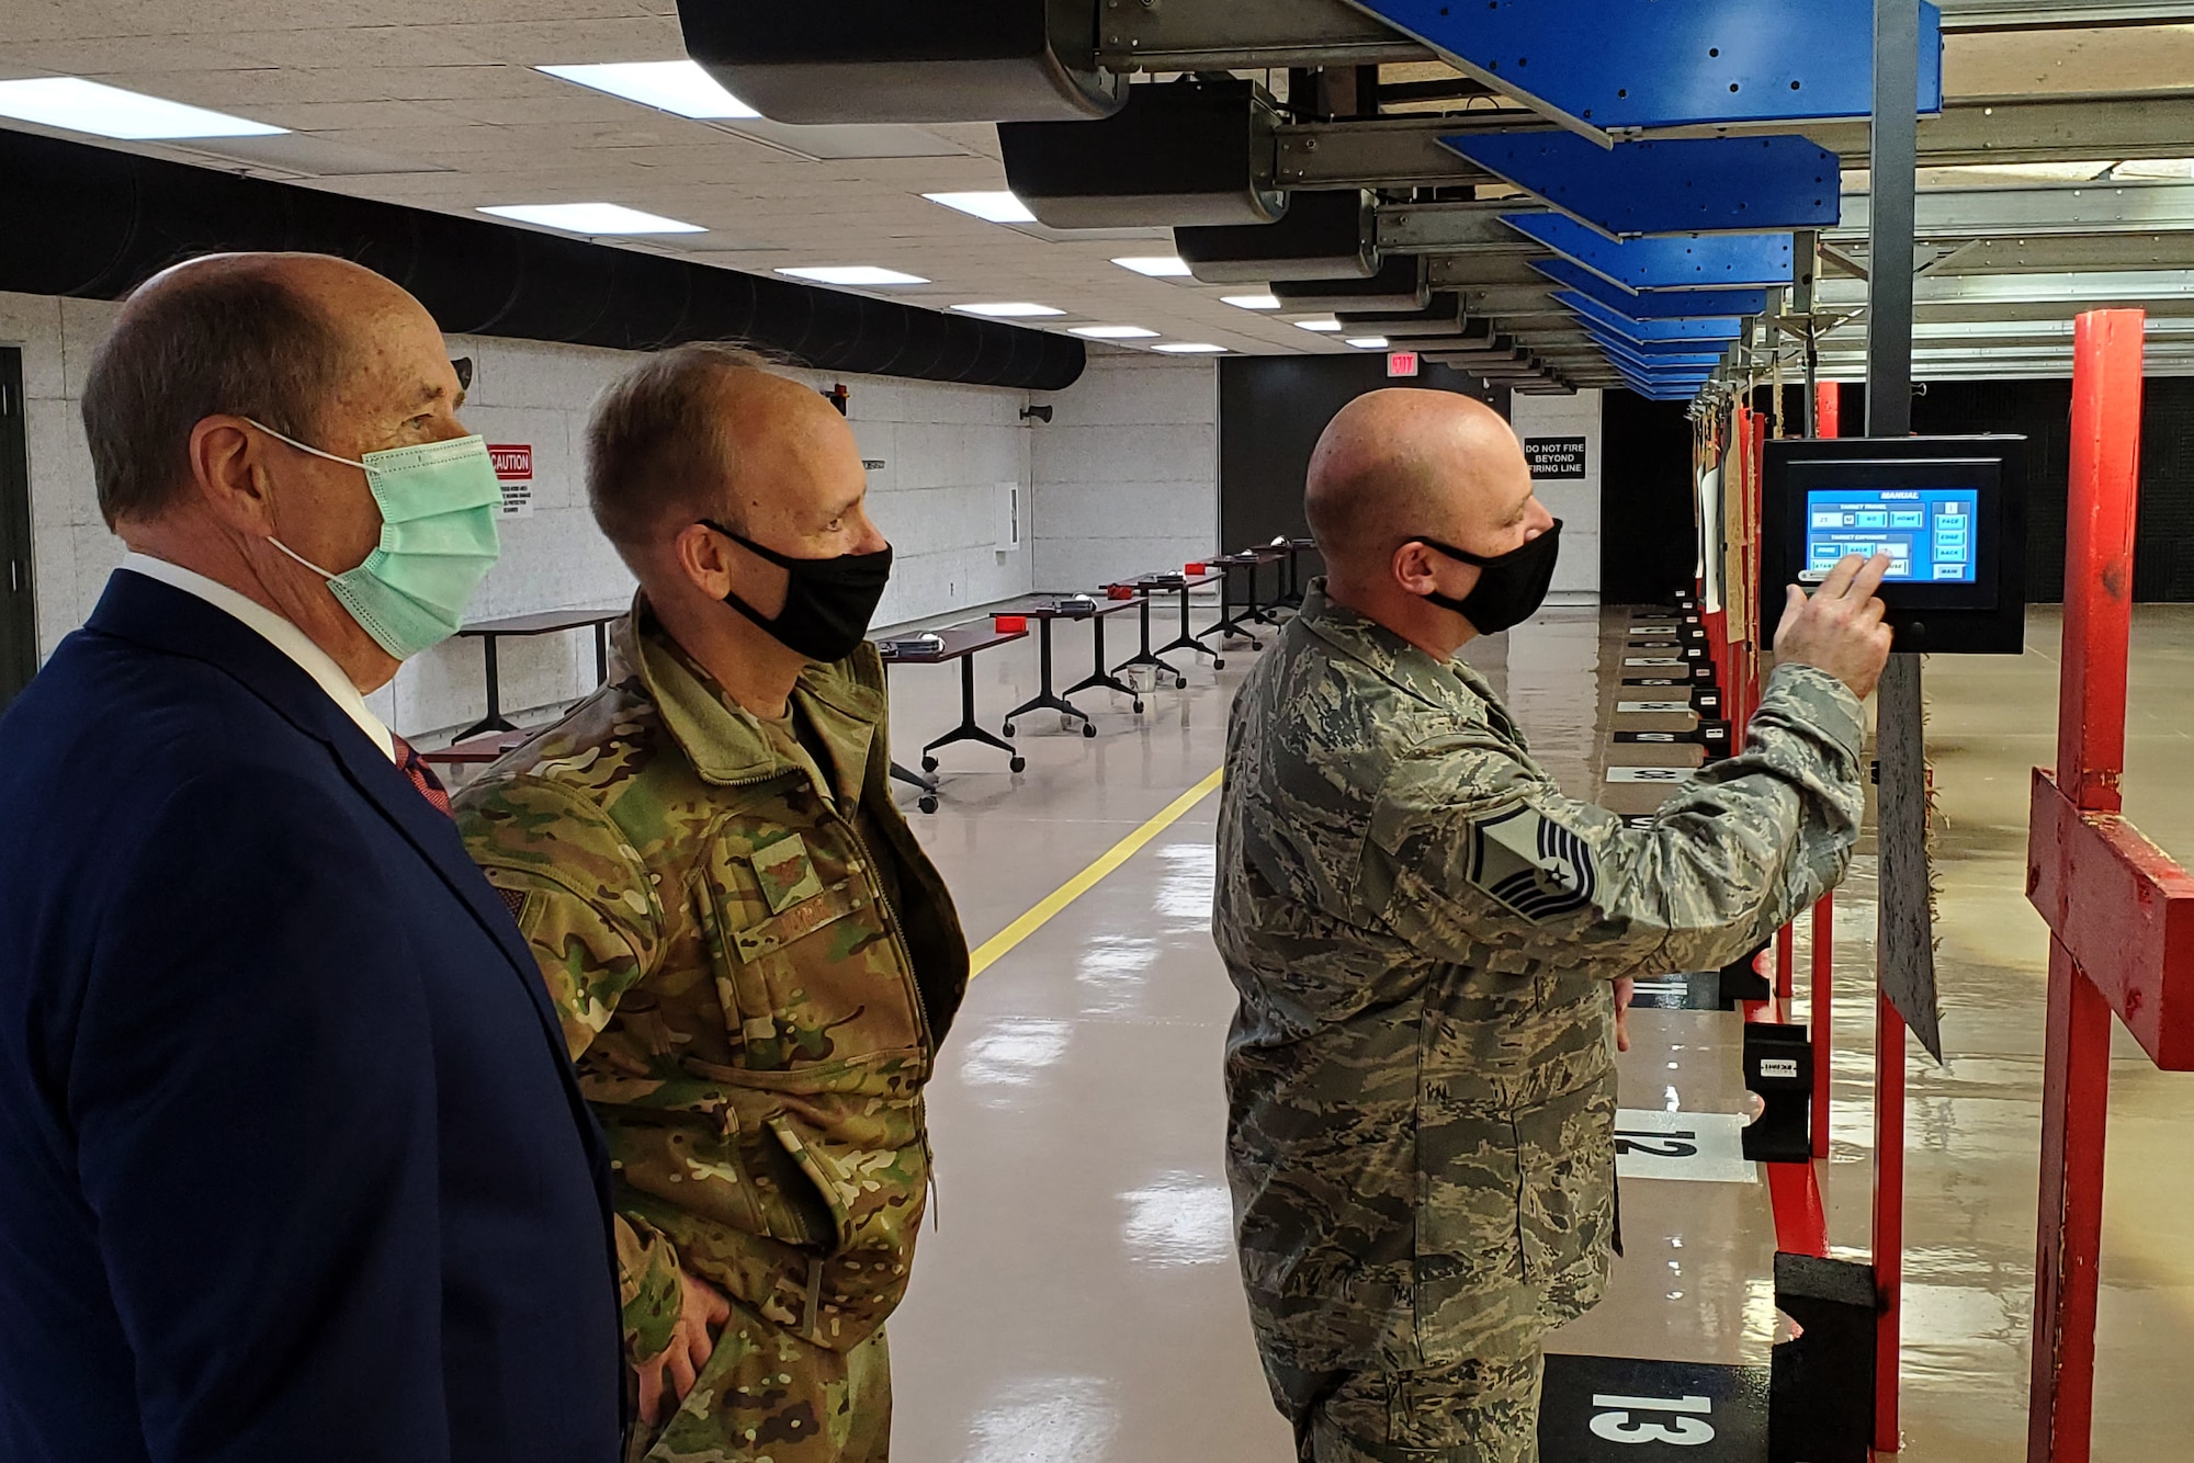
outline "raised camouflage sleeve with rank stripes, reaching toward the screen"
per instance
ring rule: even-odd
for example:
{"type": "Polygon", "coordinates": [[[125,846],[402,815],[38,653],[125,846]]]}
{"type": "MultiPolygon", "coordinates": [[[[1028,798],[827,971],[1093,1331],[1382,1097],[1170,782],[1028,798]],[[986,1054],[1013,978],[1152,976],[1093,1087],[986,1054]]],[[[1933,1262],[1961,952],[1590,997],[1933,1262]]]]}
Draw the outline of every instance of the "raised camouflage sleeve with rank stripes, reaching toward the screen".
{"type": "Polygon", "coordinates": [[[1439,737],[1387,776],[1358,897],[1420,950],[1490,969],[1727,965],[1843,880],[1863,735],[1841,680],[1777,667],[1746,750],[1641,829],[1562,796],[1490,735],[1439,737]]]}

